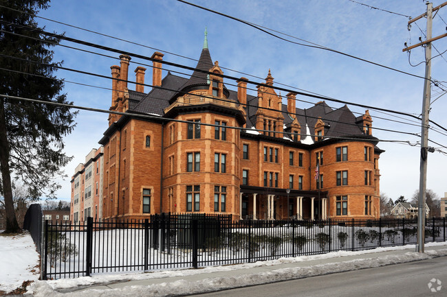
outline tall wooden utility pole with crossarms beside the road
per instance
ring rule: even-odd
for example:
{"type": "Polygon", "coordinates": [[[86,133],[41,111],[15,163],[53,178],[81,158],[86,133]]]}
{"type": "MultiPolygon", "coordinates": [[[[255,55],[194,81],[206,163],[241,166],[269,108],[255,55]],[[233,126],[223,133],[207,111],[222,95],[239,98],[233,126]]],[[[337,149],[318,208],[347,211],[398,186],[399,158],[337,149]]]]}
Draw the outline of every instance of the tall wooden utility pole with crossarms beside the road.
{"type": "Polygon", "coordinates": [[[419,199],[417,209],[417,246],[416,252],[424,252],[425,241],[425,200],[426,200],[426,182],[427,182],[427,156],[428,156],[428,112],[430,110],[430,80],[431,80],[431,42],[439,38],[446,37],[447,34],[431,37],[431,29],[433,23],[433,11],[447,5],[447,2],[433,8],[432,3],[427,4],[426,14],[421,14],[415,19],[408,21],[408,25],[426,16],[427,18],[427,36],[426,40],[417,45],[406,47],[402,51],[409,51],[415,47],[425,45],[425,80],[424,80],[424,97],[422,99],[422,133],[421,133],[421,158],[420,158],[420,175],[419,175],[419,199]]]}

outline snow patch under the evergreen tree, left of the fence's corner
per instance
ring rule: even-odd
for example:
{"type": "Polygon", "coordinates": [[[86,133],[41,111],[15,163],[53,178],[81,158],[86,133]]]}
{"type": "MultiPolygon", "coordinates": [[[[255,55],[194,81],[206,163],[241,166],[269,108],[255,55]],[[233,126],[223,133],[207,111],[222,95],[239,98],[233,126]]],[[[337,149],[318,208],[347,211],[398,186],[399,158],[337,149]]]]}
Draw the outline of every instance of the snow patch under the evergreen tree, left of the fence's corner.
{"type": "Polygon", "coordinates": [[[39,254],[28,232],[8,236],[0,234],[0,291],[10,292],[23,281],[37,281],[39,254]]]}

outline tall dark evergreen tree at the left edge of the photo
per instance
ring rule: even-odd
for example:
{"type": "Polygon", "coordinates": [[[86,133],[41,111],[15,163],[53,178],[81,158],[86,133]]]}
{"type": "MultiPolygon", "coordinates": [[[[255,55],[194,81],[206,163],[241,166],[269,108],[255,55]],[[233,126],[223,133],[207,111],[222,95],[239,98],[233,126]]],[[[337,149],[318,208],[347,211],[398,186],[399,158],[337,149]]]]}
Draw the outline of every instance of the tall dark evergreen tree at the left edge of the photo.
{"type": "Polygon", "coordinates": [[[20,232],[14,214],[11,179],[21,180],[30,198],[55,198],[63,176],[61,167],[71,159],[63,152],[63,136],[74,128],[68,107],[26,102],[17,96],[45,102],[67,102],[63,81],[54,76],[53,47],[57,38],[33,31],[34,20],[49,0],[0,0],[0,195],[6,210],[6,232],[20,232]],[[28,36],[32,38],[27,38],[28,36]],[[12,58],[14,57],[14,58],[12,58]]]}

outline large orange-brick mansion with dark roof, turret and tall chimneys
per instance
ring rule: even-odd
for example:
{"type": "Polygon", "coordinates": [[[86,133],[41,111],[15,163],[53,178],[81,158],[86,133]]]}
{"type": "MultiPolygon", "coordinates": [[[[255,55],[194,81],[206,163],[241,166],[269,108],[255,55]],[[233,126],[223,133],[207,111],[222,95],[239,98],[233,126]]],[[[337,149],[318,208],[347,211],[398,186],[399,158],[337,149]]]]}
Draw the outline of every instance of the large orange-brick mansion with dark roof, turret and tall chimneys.
{"type": "Polygon", "coordinates": [[[104,147],[102,217],[142,219],[166,212],[230,213],[235,219],[380,216],[383,151],[375,146],[368,111],[356,117],[347,106],[334,110],[325,102],[301,109],[296,93],[288,93],[283,104],[270,70],[256,96],[248,95],[246,78],[237,81],[237,91],[229,90],[206,39],[189,78],[170,72],[162,78],[163,56],[152,56],[155,87],[149,93],[143,67],[135,69],[135,91],[127,88],[129,56],[120,56],[120,66],[111,67],[110,110],[127,115],[110,114],[99,142],[104,147]]]}

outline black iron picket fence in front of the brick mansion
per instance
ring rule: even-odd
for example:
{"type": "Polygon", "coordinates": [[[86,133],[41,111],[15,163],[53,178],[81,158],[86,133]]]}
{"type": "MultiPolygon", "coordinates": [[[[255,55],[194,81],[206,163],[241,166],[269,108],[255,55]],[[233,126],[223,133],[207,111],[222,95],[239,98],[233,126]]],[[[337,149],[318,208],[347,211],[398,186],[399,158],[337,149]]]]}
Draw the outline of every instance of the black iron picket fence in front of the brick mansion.
{"type": "MultiPolygon", "coordinates": [[[[426,241],[446,241],[445,218],[428,219],[426,241]]],[[[45,223],[43,278],[198,268],[367,250],[417,242],[413,219],[232,222],[228,215],[155,215],[146,220],[45,223]]]]}

